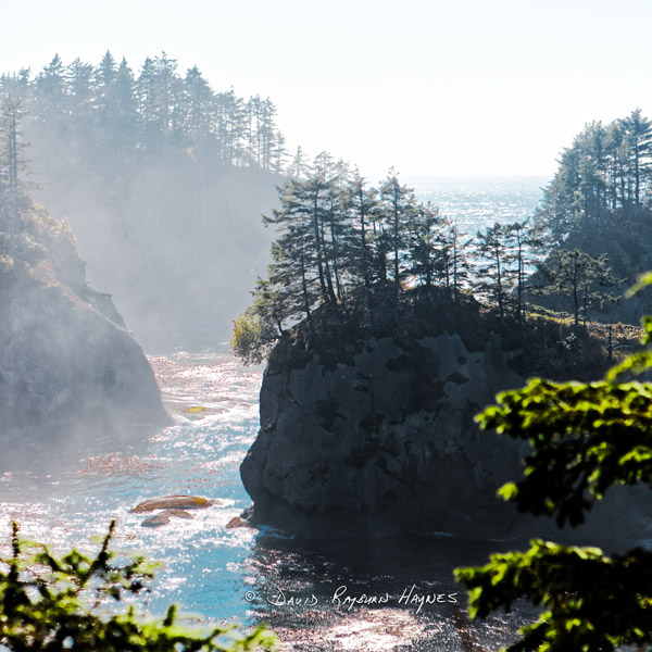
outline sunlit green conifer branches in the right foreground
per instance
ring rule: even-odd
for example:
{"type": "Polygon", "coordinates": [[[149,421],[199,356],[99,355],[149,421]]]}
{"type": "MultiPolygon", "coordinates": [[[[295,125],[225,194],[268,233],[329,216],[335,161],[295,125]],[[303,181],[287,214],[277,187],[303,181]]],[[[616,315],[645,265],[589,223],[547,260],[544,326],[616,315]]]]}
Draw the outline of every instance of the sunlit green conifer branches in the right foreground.
{"type": "MultiPolygon", "coordinates": [[[[643,275],[632,291],[652,284],[643,275]]],[[[652,343],[652,317],[643,319],[652,343]]],[[[652,367],[645,349],[612,368],[604,380],[551,383],[535,378],[497,397],[476,419],[529,442],[522,479],[499,490],[519,511],[554,516],[557,525],[581,524],[611,487],[652,487],[652,385],[619,383],[652,367]]],[[[652,552],[636,548],[605,555],[541,540],[526,552],[493,554],[482,567],[457,568],[469,591],[469,613],[486,617],[518,600],[542,612],[521,629],[509,652],[610,652],[652,644],[652,552]]]]}

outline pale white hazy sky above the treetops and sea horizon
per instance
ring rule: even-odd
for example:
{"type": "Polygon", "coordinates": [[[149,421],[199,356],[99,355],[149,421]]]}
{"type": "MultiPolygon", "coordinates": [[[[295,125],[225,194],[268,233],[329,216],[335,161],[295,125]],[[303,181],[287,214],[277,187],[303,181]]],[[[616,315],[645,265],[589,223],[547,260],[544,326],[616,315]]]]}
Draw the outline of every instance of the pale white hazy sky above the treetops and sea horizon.
{"type": "Polygon", "coordinates": [[[652,0],[0,0],[0,70],[165,50],[367,176],[551,174],[585,123],[652,114],[652,0]]]}

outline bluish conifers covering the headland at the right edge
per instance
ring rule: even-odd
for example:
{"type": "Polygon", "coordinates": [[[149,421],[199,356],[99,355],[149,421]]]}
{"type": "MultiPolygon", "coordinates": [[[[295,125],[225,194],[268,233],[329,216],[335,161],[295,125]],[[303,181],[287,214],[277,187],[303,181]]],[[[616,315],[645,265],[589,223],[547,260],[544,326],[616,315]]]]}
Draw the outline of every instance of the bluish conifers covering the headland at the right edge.
{"type": "Polygon", "coordinates": [[[606,254],[616,276],[634,283],[649,265],[651,192],[652,123],[636,109],[587,124],[562,151],[537,223],[551,248],[606,254]]]}

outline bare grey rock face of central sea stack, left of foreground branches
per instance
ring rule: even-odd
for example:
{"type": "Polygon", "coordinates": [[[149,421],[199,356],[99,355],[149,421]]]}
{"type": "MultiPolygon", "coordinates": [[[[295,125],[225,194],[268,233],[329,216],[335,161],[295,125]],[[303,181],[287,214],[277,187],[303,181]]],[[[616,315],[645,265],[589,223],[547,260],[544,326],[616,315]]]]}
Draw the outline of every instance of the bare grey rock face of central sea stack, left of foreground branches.
{"type": "Polygon", "coordinates": [[[499,336],[469,350],[448,333],[369,339],[330,368],[273,355],[241,466],[253,521],[314,536],[509,530],[496,490],[521,454],[473,422],[523,384],[507,359],[499,336]]]}

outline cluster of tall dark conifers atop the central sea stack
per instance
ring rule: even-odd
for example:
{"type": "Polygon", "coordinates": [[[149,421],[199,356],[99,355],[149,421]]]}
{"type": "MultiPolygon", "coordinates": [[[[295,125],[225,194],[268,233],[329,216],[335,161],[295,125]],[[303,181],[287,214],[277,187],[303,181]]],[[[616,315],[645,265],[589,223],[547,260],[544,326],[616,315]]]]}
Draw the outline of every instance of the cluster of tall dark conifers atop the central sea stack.
{"type": "Polygon", "coordinates": [[[314,334],[318,309],[340,323],[355,314],[397,324],[411,289],[443,289],[461,300],[472,277],[469,242],[434,205],[417,201],[394,170],[378,188],[326,152],[302,170],[306,176],[289,178],[280,208],[263,217],[276,239],[267,278],[235,322],[240,358],[260,362],[301,321],[314,334]]]}

